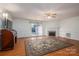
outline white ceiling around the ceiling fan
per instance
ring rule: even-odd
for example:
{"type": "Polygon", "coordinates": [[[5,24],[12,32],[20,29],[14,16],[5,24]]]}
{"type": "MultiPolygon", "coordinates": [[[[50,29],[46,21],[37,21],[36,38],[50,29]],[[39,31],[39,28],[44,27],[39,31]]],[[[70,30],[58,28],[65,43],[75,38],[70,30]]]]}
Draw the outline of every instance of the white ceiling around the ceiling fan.
{"type": "Polygon", "coordinates": [[[46,21],[79,16],[78,3],[1,3],[0,10],[5,10],[14,19],[46,21]],[[44,13],[49,10],[56,12],[56,18],[44,17],[44,13]]]}

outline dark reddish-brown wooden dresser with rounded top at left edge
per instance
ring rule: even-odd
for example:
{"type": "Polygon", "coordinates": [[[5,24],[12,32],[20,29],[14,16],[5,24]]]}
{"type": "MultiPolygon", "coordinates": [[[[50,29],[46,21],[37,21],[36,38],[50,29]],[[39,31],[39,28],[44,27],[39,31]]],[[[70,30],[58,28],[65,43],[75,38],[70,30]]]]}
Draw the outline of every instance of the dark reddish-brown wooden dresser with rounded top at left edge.
{"type": "Polygon", "coordinates": [[[13,32],[8,29],[0,30],[0,50],[9,50],[14,48],[16,36],[13,32]]]}

